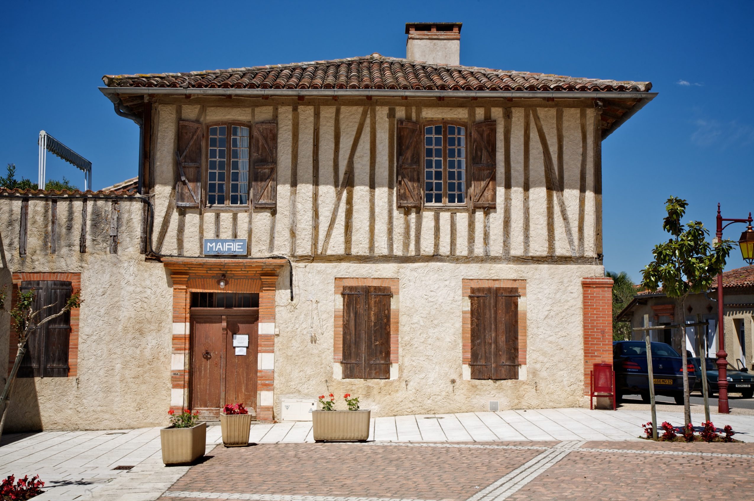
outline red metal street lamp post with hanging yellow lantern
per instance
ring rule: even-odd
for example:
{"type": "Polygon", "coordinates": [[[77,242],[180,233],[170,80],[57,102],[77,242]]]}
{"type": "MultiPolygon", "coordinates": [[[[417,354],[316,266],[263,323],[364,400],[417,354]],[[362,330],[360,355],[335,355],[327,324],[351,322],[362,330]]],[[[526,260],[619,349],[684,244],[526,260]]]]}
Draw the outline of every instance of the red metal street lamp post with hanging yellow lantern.
{"type": "MultiPolygon", "coordinates": [[[[717,204],[717,231],[715,233],[716,240],[722,242],[722,231],[728,228],[733,223],[749,223],[749,227],[741,234],[739,245],[741,249],[741,255],[743,259],[752,264],[754,262],[754,230],[752,230],[752,213],[749,212],[749,218],[736,219],[736,218],[723,218],[720,215],[720,204],[717,204]],[[723,226],[723,221],[728,221],[728,224],[723,226]]],[[[725,353],[725,326],[723,325],[723,314],[725,313],[725,305],[722,304],[722,273],[717,276],[717,338],[718,338],[718,352],[717,355],[717,387],[718,387],[718,399],[717,399],[717,411],[719,414],[728,414],[730,408],[728,408],[728,371],[726,366],[728,365],[728,353],[725,353]]],[[[705,353],[706,356],[706,353],[705,353]]]]}

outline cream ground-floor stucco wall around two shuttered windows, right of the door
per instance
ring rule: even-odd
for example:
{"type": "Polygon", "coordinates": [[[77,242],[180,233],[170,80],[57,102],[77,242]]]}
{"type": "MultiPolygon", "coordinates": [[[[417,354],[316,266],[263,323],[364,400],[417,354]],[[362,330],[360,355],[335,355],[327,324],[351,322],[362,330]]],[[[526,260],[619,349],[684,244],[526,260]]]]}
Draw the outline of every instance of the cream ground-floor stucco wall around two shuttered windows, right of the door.
{"type": "Polygon", "coordinates": [[[279,415],[282,399],[315,399],[328,391],[359,396],[363,408],[376,416],[485,411],[489,400],[498,400],[501,409],[583,405],[581,277],[601,271],[599,266],[299,264],[293,303],[287,277],[278,280],[275,413],[279,415]],[[333,376],[336,276],[400,280],[397,377],[333,376]],[[527,365],[520,380],[464,379],[464,278],[526,280],[527,365]]]}

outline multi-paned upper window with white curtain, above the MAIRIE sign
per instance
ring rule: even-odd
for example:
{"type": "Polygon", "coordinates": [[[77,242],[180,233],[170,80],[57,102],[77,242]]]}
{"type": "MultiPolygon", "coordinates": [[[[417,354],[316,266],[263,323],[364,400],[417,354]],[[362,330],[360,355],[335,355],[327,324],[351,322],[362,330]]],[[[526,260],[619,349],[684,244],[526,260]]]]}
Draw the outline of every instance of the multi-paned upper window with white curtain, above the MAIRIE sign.
{"type": "Polygon", "coordinates": [[[207,162],[207,205],[249,203],[249,127],[210,127],[207,162]]]}

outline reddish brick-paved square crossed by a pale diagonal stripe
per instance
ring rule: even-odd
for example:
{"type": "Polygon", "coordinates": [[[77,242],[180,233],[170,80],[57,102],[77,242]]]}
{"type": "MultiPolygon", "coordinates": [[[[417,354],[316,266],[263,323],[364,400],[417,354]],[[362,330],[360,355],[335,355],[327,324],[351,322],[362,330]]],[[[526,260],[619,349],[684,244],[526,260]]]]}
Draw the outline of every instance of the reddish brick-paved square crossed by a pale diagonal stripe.
{"type": "Polygon", "coordinates": [[[160,501],[718,499],[748,492],[754,471],[754,444],[259,444],[210,455],[160,501]]]}

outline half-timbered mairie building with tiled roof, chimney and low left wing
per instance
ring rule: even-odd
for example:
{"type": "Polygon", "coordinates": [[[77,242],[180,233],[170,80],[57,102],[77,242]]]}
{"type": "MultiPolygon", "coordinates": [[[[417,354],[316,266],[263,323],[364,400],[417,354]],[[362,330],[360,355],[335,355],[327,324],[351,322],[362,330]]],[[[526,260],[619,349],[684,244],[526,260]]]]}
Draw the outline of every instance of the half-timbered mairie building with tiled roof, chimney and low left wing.
{"type": "Polygon", "coordinates": [[[280,420],[329,392],[375,416],[586,405],[611,361],[602,139],[656,94],[458,66],[460,32],[407,24],[425,62],[104,77],[143,197],[0,192],[5,280],[84,299],[8,428],[280,420]]]}

